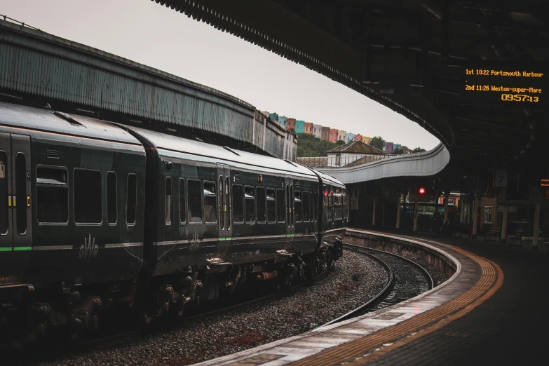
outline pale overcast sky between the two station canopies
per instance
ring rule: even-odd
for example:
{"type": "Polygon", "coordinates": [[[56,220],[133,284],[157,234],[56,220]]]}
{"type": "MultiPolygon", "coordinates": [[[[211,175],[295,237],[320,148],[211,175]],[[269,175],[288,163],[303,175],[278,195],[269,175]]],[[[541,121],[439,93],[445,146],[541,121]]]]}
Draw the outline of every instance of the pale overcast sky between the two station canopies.
{"type": "Polygon", "coordinates": [[[416,123],[304,66],[150,0],[1,0],[0,14],[161,69],[262,111],[409,148],[438,140],[416,123]]]}

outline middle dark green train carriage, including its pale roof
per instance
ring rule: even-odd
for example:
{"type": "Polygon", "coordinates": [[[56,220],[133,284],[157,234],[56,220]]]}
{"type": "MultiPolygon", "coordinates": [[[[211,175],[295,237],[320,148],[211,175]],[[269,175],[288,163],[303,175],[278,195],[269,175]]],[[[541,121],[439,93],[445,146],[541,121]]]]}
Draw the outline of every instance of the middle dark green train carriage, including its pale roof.
{"type": "Polygon", "coordinates": [[[249,273],[276,276],[275,269],[294,269],[296,261],[315,255],[322,220],[316,172],[269,156],[121,127],[147,150],[145,257],[154,287],[149,297],[164,299],[150,304],[149,312],[160,311],[174,293],[191,300],[202,290],[211,299],[249,273]],[[212,279],[216,273],[222,276],[212,279]]]}

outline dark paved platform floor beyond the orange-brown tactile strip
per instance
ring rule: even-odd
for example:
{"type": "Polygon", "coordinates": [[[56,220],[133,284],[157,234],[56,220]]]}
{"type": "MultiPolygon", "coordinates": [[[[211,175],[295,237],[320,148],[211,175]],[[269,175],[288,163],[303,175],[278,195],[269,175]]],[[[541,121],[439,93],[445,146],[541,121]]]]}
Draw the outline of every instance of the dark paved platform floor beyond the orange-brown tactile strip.
{"type": "MultiPolygon", "coordinates": [[[[389,233],[454,245],[498,264],[503,283],[465,316],[358,365],[542,365],[549,345],[549,255],[434,233],[389,233]]],[[[545,360],[545,361],[544,361],[545,360]]]]}

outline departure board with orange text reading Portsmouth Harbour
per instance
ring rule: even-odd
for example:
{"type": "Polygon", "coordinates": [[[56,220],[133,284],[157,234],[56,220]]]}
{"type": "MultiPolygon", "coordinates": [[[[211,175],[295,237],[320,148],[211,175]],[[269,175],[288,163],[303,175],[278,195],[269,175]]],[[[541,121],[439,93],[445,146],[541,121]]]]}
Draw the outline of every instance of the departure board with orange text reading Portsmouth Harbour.
{"type": "Polygon", "coordinates": [[[504,104],[545,108],[548,105],[549,73],[542,66],[481,62],[462,69],[463,104],[504,104]]]}

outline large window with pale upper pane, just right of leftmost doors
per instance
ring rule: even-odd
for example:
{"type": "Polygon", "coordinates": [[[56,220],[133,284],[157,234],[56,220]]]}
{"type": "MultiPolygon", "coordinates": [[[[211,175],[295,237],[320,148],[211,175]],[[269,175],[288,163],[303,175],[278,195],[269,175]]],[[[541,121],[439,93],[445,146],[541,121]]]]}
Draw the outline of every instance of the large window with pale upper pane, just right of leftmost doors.
{"type": "Polygon", "coordinates": [[[67,168],[36,168],[36,219],[39,223],[67,224],[69,221],[67,177],[67,168]]]}

